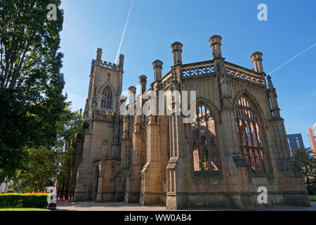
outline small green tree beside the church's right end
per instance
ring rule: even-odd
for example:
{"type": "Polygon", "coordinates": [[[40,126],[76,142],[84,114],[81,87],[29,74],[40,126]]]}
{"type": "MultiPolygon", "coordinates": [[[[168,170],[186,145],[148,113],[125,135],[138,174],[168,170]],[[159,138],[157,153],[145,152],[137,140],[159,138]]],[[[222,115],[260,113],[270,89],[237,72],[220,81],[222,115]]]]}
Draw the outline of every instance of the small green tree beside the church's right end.
{"type": "Polygon", "coordinates": [[[302,169],[308,191],[316,186],[316,159],[310,148],[298,148],[292,159],[302,169]]]}

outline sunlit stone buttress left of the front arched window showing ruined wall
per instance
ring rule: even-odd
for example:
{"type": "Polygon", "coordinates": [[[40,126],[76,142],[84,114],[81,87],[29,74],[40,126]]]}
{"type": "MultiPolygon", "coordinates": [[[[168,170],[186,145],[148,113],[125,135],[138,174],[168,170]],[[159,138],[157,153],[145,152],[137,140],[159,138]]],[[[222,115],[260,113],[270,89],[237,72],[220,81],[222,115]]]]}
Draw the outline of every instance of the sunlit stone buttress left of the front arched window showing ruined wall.
{"type": "MultiPolygon", "coordinates": [[[[171,44],[173,53],[173,80],[170,91],[181,91],[183,44],[176,41],[171,44]]],[[[171,102],[172,115],[169,120],[169,150],[170,159],[166,166],[166,208],[168,210],[183,209],[187,207],[190,198],[191,167],[190,167],[190,143],[188,143],[187,124],[183,123],[183,115],[176,115],[176,103],[171,102]]],[[[168,103],[167,103],[168,104],[168,103]]]]}

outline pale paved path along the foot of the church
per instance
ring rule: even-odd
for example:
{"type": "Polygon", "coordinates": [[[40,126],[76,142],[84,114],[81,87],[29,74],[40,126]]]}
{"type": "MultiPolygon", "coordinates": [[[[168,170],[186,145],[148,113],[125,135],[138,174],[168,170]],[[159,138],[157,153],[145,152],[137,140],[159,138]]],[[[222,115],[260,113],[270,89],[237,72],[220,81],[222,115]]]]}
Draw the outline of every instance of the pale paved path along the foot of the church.
{"type": "MultiPolygon", "coordinates": [[[[256,211],[316,211],[316,202],[311,202],[312,207],[298,207],[292,205],[275,205],[272,207],[256,207],[256,211]]],[[[167,211],[164,206],[142,206],[140,204],[125,203],[58,203],[58,211],[167,211]]],[[[237,211],[226,208],[216,209],[187,209],[187,210],[211,210],[211,211],[237,211]]]]}

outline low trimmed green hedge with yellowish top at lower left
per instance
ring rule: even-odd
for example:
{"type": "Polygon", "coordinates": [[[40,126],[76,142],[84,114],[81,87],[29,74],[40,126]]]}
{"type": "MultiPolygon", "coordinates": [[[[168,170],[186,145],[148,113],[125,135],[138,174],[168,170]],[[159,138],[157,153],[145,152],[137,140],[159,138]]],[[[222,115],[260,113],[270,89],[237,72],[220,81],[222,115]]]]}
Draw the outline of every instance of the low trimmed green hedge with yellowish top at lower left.
{"type": "Polygon", "coordinates": [[[41,208],[47,207],[49,193],[4,193],[0,194],[0,208],[41,208]]]}

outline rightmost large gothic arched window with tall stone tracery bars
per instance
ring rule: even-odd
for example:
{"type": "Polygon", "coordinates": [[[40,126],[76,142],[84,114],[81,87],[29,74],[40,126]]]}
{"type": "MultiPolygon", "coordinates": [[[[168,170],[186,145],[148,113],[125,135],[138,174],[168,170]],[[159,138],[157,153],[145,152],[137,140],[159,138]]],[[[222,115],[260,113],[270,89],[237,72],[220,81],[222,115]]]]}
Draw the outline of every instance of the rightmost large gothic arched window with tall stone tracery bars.
{"type": "Polygon", "coordinates": [[[240,150],[249,170],[266,172],[267,155],[263,146],[263,129],[254,105],[241,96],[235,108],[236,126],[239,134],[240,150]]]}

